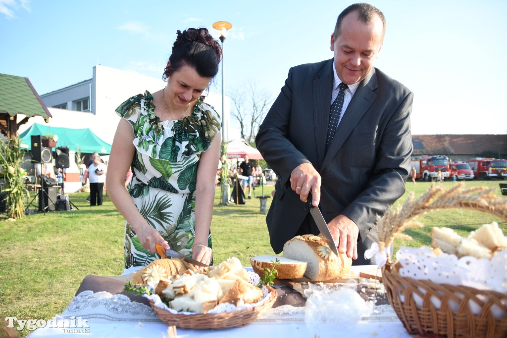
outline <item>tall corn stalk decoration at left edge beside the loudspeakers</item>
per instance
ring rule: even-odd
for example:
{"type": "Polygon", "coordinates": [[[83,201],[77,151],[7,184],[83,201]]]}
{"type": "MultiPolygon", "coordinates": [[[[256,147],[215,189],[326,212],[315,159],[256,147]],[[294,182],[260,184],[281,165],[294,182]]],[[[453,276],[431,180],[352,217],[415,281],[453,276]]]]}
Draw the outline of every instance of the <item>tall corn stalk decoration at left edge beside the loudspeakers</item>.
{"type": "Polygon", "coordinates": [[[24,201],[29,198],[24,184],[24,170],[21,164],[24,151],[18,136],[0,139],[0,170],[4,173],[5,185],[2,192],[6,193],[7,216],[9,218],[24,218],[24,201]]]}

